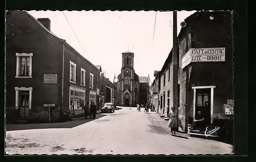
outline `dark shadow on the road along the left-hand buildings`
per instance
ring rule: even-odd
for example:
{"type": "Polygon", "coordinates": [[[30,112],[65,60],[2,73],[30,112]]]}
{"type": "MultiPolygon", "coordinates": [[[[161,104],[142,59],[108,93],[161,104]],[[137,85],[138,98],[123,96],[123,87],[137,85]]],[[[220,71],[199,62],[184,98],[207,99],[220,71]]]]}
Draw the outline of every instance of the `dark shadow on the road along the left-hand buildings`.
{"type": "MultiPolygon", "coordinates": [[[[107,114],[96,114],[96,119],[105,117],[107,114]]],[[[6,131],[27,130],[27,129],[48,129],[48,128],[73,128],[96,119],[79,118],[69,122],[62,123],[42,123],[42,124],[7,124],[6,131]]]]}

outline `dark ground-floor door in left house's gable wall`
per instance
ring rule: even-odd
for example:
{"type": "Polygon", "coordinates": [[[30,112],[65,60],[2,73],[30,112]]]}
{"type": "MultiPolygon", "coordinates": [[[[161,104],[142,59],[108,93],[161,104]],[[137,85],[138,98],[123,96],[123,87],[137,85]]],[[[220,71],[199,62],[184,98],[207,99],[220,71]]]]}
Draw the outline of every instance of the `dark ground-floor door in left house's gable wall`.
{"type": "Polygon", "coordinates": [[[21,118],[29,118],[29,91],[19,91],[19,116],[21,118]]]}

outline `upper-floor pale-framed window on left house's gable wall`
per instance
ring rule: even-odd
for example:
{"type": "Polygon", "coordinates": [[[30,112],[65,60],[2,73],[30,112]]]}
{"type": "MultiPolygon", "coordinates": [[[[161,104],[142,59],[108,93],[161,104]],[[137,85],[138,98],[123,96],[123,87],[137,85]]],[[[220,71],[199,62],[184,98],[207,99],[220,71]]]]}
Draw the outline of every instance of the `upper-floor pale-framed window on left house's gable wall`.
{"type": "Polygon", "coordinates": [[[32,53],[16,53],[16,77],[32,78],[32,53]]]}

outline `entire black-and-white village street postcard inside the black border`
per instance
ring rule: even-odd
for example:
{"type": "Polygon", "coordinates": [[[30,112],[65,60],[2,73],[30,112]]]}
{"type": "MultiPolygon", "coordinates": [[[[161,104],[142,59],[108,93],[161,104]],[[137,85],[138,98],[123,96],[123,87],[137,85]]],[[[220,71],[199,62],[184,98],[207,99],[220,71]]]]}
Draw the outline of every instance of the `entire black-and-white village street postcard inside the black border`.
{"type": "Polygon", "coordinates": [[[7,11],[7,155],[233,154],[231,11],[7,11]]]}

